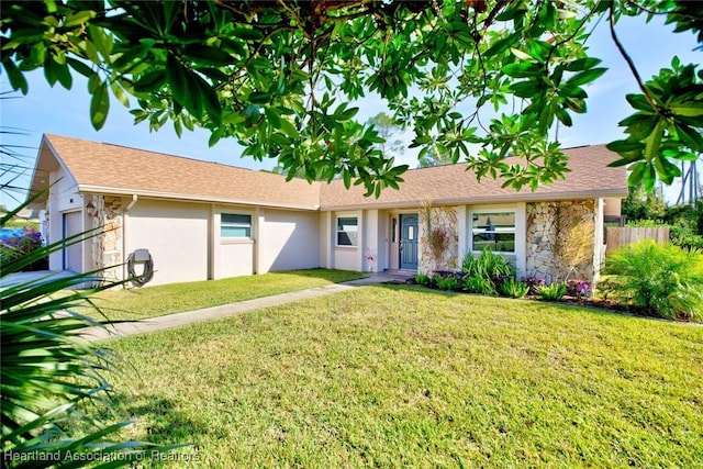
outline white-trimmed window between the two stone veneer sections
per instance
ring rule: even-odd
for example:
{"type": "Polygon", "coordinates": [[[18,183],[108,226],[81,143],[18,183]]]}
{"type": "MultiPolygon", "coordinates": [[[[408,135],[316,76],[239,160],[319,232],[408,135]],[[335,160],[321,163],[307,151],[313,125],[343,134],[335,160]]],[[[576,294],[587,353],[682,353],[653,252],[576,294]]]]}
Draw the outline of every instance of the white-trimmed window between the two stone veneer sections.
{"type": "Polygon", "coordinates": [[[515,252],[515,211],[476,211],[471,212],[472,252],[486,248],[494,253],[515,252]]]}

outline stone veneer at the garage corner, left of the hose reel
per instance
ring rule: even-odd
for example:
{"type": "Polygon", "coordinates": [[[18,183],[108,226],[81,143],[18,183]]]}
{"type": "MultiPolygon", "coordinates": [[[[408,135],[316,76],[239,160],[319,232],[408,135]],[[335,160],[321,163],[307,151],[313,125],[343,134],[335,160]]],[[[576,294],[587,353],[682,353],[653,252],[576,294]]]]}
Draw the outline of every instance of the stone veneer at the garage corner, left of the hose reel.
{"type": "Polygon", "coordinates": [[[92,266],[104,268],[105,280],[122,279],[122,199],[110,196],[86,198],[86,212],[90,226],[102,232],[90,238],[92,266]]]}

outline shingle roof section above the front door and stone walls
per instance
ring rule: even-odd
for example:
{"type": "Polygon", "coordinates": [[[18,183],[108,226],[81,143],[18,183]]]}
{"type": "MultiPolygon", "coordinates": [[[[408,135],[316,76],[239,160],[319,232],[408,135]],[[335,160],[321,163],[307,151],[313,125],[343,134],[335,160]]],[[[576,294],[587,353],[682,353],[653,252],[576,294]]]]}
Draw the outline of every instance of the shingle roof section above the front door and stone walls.
{"type": "Polygon", "coordinates": [[[487,203],[515,200],[572,199],[585,197],[626,197],[627,172],[624,167],[610,168],[607,164],[617,155],[605,145],[593,145],[563,150],[570,157],[571,172],[565,180],[542,185],[536,191],[523,188],[520,192],[503,189],[503,181],[484,177],[477,182],[476,175],[467,171],[466,164],[411,169],[402,175],[400,190],[387,189],[379,199],[364,197],[364,188],[344,188],[341,180],[322,186],[322,210],[357,206],[419,206],[425,200],[434,204],[487,203]]]}

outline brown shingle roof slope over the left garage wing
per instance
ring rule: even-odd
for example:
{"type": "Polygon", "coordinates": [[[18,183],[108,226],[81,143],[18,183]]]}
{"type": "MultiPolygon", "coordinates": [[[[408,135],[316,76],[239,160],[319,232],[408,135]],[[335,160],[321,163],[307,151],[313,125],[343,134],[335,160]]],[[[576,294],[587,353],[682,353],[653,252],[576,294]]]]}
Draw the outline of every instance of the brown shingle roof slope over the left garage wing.
{"type": "Polygon", "coordinates": [[[59,135],[45,139],[80,191],[316,209],[316,183],[59,135]]]}

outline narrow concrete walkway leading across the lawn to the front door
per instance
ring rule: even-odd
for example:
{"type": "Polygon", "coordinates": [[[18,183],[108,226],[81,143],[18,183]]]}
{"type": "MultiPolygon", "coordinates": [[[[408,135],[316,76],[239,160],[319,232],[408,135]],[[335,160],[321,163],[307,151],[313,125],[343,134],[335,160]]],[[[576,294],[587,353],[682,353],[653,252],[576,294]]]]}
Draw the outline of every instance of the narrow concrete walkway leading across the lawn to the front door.
{"type": "Polygon", "coordinates": [[[333,283],[324,287],[310,288],[306,290],[292,291],[290,293],[275,294],[271,297],[256,298],[253,300],[239,301],[222,306],[205,308],[202,310],[187,311],[183,313],[168,314],[165,316],[150,317],[138,322],[118,323],[103,327],[88,327],[81,332],[81,336],[87,340],[102,340],[114,337],[126,337],[134,334],[145,334],[154,331],[161,331],[178,327],[199,321],[227,317],[261,308],[277,306],[279,304],[292,303],[294,301],[306,300],[309,298],[324,297],[326,294],[338,293],[352,290],[356,287],[378,283],[389,283],[403,281],[398,276],[372,275],[362,279],[352,280],[344,283],[333,283]]]}

